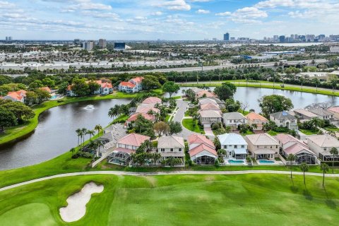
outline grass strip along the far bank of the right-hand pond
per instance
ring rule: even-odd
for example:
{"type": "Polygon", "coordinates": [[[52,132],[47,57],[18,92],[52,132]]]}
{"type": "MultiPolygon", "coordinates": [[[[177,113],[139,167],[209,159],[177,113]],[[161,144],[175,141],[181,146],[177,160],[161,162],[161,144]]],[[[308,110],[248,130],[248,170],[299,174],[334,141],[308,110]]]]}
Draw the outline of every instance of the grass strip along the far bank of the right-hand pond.
{"type": "MultiPolygon", "coordinates": [[[[237,83],[234,81],[224,81],[224,82],[232,82],[234,83],[234,85],[238,86],[238,87],[253,87],[253,88],[268,88],[268,89],[275,89],[275,90],[290,90],[290,91],[298,91],[298,92],[303,92],[303,93],[316,93],[316,94],[323,94],[323,95],[331,95],[331,96],[339,96],[339,92],[335,92],[333,93],[331,90],[316,90],[316,88],[314,87],[310,87],[310,86],[304,86],[303,88],[301,88],[301,86],[292,86],[292,85],[288,85],[288,84],[284,84],[285,87],[280,87],[280,85],[282,85],[283,83],[275,83],[275,85],[273,85],[273,83],[268,83],[266,81],[258,81],[257,83],[237,83]]],[[[200,82],[198,85],[191,83],[191,84],[180,84],[183,87],[196,87],[198,85],[207,85],[207,86],[220,86],[221,83],[209,83],[209,82],[200,82]]]]}

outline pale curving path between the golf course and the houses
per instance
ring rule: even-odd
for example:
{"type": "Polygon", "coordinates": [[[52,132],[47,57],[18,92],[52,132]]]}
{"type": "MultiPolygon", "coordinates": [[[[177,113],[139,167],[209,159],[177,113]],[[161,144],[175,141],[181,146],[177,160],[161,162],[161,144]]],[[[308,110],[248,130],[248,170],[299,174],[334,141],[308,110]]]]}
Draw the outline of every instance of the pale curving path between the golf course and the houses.
{"type": "MultiPolygon", "coordinates": [[[[234,175],[234,174],[290,174],[290,171],[278,171],[278,170],[239,170],[239,171],[169,171],[169,172],[124,172],[124,171],[89,171],[89,172],[72,172],[67,174],[57,174],[49,177],[42,177],[38,179],[32,179],[27,182],[21,182],[18,184],[13,184],[10,186],[5,186],[0,189],[0,191],[6,191],[8,189],[14,189],[19,186],[33,184],[36,182],[43,182],[49,179],[61,178],[61,177],[74,177],[74,176],[84,176],[84,175],[96,175],[96,174],[106,174],[106,175],[126,175],[126,176],[156,176],[156,175],[234,175]]],[[[302,175],[303,172],[293,172],[295,175],[302,175]]],[[[305,175],[308,176],[318,176],[323,177],[322,173],[316,172],[305,172],[305,175]]],[[[326,177],[339,177],[339,174],[325,174],[326,177]]]]}

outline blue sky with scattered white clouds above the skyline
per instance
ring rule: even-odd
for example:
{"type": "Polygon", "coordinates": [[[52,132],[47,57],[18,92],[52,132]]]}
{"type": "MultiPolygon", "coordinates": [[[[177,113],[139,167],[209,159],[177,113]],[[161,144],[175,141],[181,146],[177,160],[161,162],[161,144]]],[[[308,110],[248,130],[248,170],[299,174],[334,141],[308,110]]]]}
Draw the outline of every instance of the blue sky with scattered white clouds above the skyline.
{"type": "Polygon", "coordinates": [[[338,0],[0,0],[0,40],[339,34],[338,0]]]}

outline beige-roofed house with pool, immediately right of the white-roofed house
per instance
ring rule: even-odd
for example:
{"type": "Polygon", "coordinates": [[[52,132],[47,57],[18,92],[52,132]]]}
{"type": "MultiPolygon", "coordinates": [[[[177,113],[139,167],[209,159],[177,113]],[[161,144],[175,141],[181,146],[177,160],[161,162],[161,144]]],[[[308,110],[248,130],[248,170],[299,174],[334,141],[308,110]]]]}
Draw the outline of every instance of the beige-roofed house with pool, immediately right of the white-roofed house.
{"type": "Polygon", "coordinates": [[[246,135],[248,150],[256,160],[274,159],[279,156],[279,142],[268,133],[246,135]]]}

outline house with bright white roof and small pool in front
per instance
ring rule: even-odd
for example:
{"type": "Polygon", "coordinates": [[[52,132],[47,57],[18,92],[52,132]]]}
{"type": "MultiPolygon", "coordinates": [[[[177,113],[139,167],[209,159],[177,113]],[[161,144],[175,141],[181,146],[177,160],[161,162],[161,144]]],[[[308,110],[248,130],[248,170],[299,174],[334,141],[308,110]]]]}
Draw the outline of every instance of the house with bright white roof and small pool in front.
{"type": "Polygon", "coordinates": [[[247,156],[247,142],[236,133],[225,133],[218,136],[221,148],[226,150],[228,157],[245,159],[247,156]]]}

